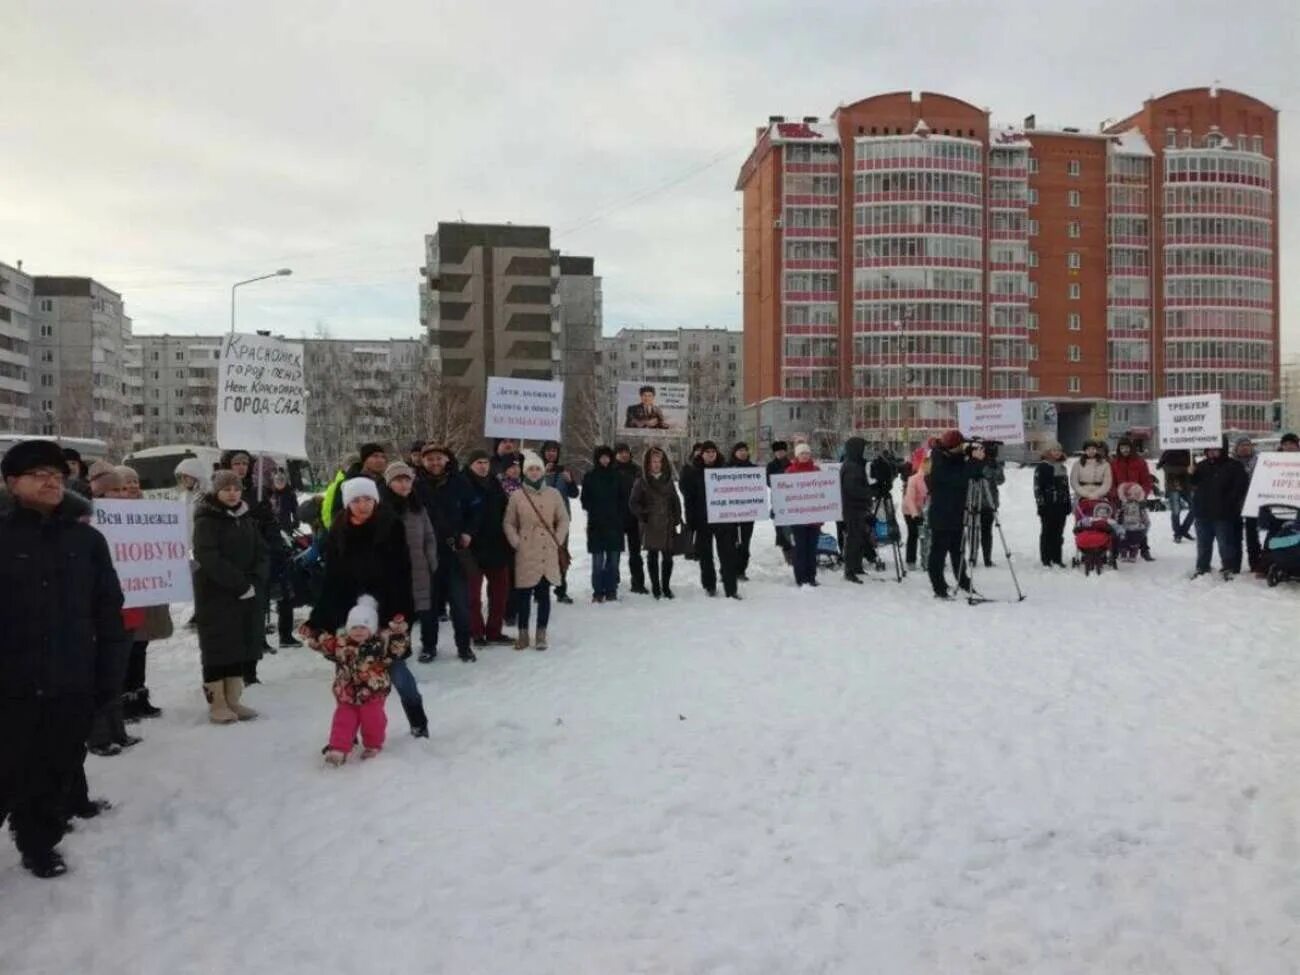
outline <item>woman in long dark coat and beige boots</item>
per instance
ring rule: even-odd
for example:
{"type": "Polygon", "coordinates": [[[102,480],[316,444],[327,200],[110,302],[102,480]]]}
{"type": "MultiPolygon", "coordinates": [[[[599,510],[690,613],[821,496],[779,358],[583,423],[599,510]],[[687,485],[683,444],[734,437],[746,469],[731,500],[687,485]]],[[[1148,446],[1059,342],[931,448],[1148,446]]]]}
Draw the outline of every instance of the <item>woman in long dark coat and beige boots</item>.
{"type": "Polygon", "coordinates": [[[266,542],[233,471],[218,471],[212,494],[195,507],[194,559],[194,615],[208,716],[214,724],[256,718],[239,699],[244,670],[261,655],[257,589],[266,582],[266,542]]]}

